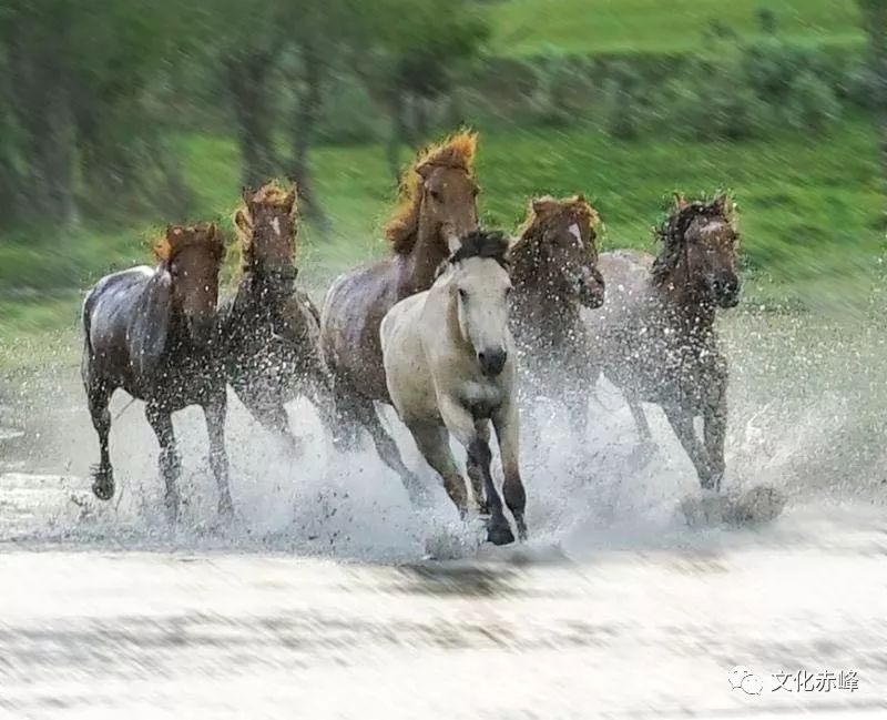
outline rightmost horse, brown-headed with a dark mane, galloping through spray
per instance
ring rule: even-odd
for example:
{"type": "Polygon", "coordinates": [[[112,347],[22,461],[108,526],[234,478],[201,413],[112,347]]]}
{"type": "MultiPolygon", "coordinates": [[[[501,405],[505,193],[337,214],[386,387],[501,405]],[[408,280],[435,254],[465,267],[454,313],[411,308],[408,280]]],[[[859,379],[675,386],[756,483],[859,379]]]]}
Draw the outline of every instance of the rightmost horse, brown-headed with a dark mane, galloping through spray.
{"type": "Polygon", "coordinates": [[[700,484],[720,489],[727,423],[727,363],[717,347],[715,311],[740,300],[737,233],[726,195],[676,205],[656,231],[653,258],[601,255],[609,298],[590,320],[604,376],[624,394],[641,439],[651,434],[642,402],[662,406],[700,484]],[[703,418],[703,440],[693,426],[703,418]]]}

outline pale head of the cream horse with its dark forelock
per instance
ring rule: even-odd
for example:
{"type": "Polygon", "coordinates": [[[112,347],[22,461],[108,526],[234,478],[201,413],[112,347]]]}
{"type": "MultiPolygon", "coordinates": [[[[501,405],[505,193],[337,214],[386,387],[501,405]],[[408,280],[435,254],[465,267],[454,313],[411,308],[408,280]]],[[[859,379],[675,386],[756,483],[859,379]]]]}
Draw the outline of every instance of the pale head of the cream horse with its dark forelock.
{"type": "Polygon", "coordinates": [[[500,232],[475,231],[449,258],[449,282],[462,339],[475,353],[481,372],[496,377],[511,351],[508,329],[508,237],[500,232]]]}

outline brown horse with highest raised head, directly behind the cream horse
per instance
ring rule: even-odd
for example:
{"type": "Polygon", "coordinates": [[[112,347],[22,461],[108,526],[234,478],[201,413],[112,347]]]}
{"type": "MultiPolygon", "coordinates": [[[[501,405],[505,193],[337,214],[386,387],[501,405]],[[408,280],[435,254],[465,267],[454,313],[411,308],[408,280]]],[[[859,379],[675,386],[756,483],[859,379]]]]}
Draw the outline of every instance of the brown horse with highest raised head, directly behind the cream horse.
{"type": "Polygon", "coordinates": [[[374,400],[390,404],[379,325],[398,301],[428,290],[460,237],[477,229],[475,149],[476,136],[461,133],[419,155],[402,179],[400,204],[385,229],[392,255],[340,276],[322,313],[324,358],[345,439],[354,442],[357,428],[365,427],[379,457],[410,493],[418,490],[416,478],[373,406],[374,400]]]}

